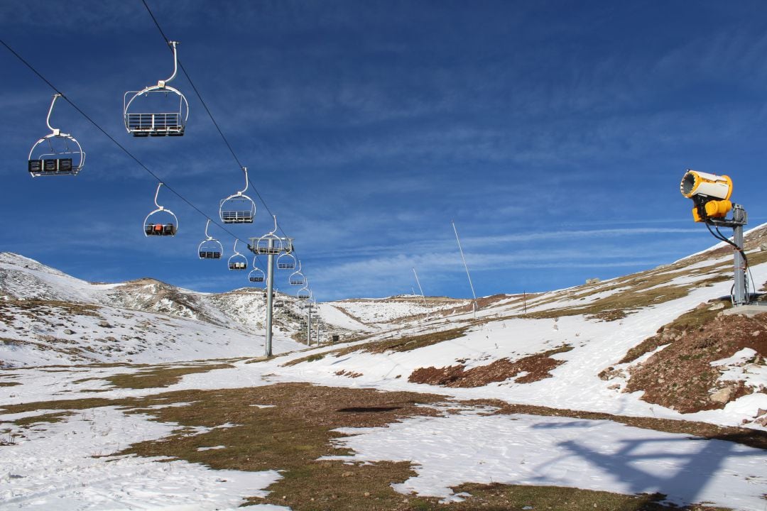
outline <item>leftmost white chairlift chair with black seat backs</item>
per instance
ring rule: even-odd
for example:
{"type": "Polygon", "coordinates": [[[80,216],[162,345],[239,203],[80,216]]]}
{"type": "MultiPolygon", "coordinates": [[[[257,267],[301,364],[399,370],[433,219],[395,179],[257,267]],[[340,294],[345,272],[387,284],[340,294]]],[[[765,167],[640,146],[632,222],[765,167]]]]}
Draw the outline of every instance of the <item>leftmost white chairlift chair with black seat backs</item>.
{"type": "Polygon", "coordinates": [[[54,94],[45,123],[51,133],[35,142],[29,150],[28,170],[33,178],[38,175],[77,175],[85,165],[85,152],[80,142],[69,133],[51,126],[51,113],[61,94],[54,94]]]}

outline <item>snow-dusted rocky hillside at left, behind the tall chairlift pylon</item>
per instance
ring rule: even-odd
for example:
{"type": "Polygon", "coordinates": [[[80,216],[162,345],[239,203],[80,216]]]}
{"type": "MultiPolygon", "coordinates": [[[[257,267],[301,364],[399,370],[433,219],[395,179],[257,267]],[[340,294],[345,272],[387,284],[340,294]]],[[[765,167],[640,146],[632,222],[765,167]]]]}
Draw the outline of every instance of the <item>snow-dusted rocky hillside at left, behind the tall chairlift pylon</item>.
{"type": "MultiPolygon", "coordinates": [[[[0,366],[171,362],[263,355],[261,290],[209,294],[152,279],[88,283],[0,254],[0,366]]],[[[298,308],[290,298],[286,310],[298,308]]],[[[275,315],[275,353],[301,349],[275,315]]]]}

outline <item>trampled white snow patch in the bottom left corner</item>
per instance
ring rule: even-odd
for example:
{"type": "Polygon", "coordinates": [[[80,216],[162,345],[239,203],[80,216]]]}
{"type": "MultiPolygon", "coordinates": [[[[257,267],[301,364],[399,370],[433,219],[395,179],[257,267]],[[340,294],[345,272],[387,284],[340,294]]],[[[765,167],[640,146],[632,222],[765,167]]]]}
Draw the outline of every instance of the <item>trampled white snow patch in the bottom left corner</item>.
{"type": "Polygon", "coordinates": [[[103,407],[25,429],[17,444],[0,447],[0,507],[235,508],[246,497],[265,496],[263,489],[281,477],[275,470],[211,470],[180,460],[112,455],[130,444],[165,437],[176,427],[103,407]]]}

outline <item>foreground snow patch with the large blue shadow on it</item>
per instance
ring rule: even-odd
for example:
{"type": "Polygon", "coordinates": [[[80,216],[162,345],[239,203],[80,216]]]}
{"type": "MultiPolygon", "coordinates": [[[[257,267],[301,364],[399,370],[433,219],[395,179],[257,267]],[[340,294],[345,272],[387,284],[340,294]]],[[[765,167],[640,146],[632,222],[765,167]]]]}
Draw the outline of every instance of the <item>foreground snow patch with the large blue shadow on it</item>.
{"type": "Polygon", "coordinates": [[[341,428],[337,460],[409,461],[416,477],[400,493],[459,501],[462,483],[571,486],[614,493],[664,493],[671,503],[762,509],[764,451],[727,441],[536,415],[476,411],[412,418],[387,427],[341,428]]]}

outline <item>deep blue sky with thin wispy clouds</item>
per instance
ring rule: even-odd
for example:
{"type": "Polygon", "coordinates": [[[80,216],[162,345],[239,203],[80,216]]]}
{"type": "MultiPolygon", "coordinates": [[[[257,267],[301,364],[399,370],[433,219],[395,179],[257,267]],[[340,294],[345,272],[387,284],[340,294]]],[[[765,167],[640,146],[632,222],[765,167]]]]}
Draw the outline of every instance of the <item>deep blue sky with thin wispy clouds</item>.
{"type": "MultiPolygon", "coordinates": [[[[479,295],[670,263],[714,241],[680,195],[688,168],[732,177],[749,225],[767,221],[763,2],[149,5],[320,300],[410,293],[412,267],[426,294],[470,296],[451,220],[479,295]]],[[[183,74],[186,135],[125,132],[123,93],[172,66],[140,0],[3,0],[0,33],[210,217],[242,188],[183,74]]],[[[196,257],[206,219],[173,194],[179,234],[144,237],[156,180],[66,103],[51,123],[85,168],[31,179],[53,91],[4,47],[0,66],[0,250],[92,281],[247,284],[196,257]]],[[[242,239],[271,229],[257,202],[255,224],[229,227],[242,239]]],[[[211,234],[228,257],[232,237],[211,234]]],[[[295,292],[287,274],[278,287],[295,292]]]]}

